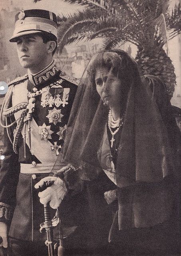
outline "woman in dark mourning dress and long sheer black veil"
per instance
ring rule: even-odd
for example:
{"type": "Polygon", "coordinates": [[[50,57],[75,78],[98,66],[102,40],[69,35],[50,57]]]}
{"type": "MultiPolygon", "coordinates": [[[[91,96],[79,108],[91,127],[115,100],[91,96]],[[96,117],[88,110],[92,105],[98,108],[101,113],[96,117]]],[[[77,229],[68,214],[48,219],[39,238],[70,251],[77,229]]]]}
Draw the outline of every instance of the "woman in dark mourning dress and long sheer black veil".
{"type": "Polygon", "coordinates": [[[179,251],[181,136],[164,85],[119,49],[95,54],[86,72],[58,163],[81,181],[109,178],[109,255],[179,251]]]}

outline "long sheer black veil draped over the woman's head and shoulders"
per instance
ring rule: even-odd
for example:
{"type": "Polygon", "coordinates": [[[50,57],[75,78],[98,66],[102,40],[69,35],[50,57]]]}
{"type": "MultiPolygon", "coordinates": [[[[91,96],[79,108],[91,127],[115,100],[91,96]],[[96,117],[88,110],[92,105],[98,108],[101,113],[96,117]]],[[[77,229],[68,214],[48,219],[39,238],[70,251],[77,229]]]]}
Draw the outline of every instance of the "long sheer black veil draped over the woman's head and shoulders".
{"type": "Polygon", "coordinates": [[[92,180],[102,171],[97,152],[109,109],[96,91],[95,71],[99,66],[106,66],[125,83],[124,100],[121,101],[125,103],[121,106],[125,108],[125,117],[115,173],[117,186],[158,182],[172,174],[178,127],[167,93],[161,80],[141,76],[135,61],[119,49],[101,51],[90,60],[86,77],[84,74],[78,87],[63,152],[56,164],[81,167],[81,178],[86,180],[92,180]],[[154,88],[159,93],[156,94],[154,88]]]}

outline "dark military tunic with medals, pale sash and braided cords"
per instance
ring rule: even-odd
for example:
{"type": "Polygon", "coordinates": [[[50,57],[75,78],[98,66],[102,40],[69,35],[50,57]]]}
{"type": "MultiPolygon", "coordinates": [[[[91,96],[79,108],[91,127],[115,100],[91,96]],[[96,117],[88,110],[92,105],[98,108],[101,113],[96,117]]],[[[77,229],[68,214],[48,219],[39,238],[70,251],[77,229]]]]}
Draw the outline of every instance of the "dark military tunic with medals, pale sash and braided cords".
{"type": "Polygon", "coordinates": [[[14,238],[34,240],[34,235],[40,234],[43,205],[34,184],[48,174],[20,173],[20,168],[22,164],[23,168],[42,164],[51,172],[61,154],[78,84],[76,78],[61,72],[54,61],[38,74],[25,75],[9,84],[1,115],[6,128],[5,159],[0,172],[0,220],[12,221],[10,236],[14,238]]]}

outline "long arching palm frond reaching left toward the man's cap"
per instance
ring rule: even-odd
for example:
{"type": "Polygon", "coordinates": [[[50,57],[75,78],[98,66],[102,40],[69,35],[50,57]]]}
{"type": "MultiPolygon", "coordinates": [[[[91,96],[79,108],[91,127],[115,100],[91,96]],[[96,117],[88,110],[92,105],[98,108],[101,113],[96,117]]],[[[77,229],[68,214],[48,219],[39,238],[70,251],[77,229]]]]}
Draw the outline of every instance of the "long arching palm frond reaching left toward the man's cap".
{"type": "MultiPolygon", "coordinates": [[[[81,39],[91,40],[93,38],[110,38],[113,36],[120,41],[129,41],[133,44],[141,42],[140,30],[135,26],[132,30],[132,20],[126,15],[120,22],[119,16],[107,14],[104,10],[87,8],[82,12],[69,15],[66,22],[58,30],[58,46],[81,39]],[[129,22],[129,23],[128,23],[129,22]]],[[[145,40],[145,37],[144,37],[145,40]]]]}

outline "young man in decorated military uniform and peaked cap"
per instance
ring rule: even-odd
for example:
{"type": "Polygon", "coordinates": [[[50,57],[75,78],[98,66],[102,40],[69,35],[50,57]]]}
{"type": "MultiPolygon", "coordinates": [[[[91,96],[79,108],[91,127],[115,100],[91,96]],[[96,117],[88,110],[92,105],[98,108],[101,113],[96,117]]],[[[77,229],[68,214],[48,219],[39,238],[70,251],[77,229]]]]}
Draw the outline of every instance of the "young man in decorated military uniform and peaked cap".
{"type": "MultiPolygon", "coordinates": [[[[54,62],[54,13],[19,12],[10,42],[17,43],[20,64],[28,74],[10,82],[1,110],[5,156],[0,172],[1,245],[6,248],[9,243],[9,256],[47,255],[46,233],[39,231],[44,206],[34,186],[42,178],[53,176],[51,170],[61,154],[79,81],[61,72],[54,62]]],[[[54,187],[61,184],[64,188],[57,192],[58,203],[51,200],[54,195],[50,196],[54,209],[67,192],[62,182],[60,178],[54,179],[54,187]]]]}

